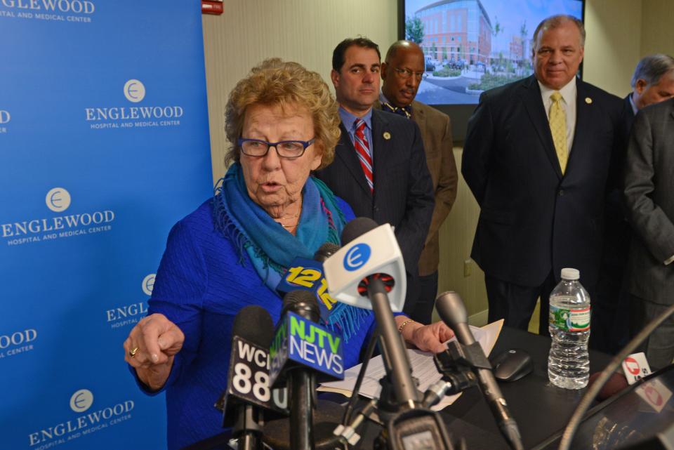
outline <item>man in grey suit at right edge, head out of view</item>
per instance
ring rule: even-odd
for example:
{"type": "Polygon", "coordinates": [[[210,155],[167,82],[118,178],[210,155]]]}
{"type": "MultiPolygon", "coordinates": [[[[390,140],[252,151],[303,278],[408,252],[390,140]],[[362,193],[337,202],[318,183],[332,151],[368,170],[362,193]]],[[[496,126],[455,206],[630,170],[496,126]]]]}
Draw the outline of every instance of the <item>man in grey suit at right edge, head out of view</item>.
{"type": "MultiPolygon", "coordinates": [[[[674,98],[640,110],[628,146],[625,201],[634,239],[628,262],[633,335],[674,303],[674,98]]],[[[646,344],[652,369],[674,358],[674,317],[646,344]]]]}

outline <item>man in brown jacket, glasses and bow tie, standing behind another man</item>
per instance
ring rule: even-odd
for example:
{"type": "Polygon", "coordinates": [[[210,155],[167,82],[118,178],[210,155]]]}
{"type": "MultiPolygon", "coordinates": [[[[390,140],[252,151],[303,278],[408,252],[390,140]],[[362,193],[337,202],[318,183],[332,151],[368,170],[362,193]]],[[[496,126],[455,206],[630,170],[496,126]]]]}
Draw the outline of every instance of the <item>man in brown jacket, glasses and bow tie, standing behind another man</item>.
{"type": "Polygon", "coordinates": [[[405,312],[417,322],[430,324],[437,296],[437,265],[440,262],[438,231],[456,199],[458,174],[452,151],[449,116],[414,100],[424,69],[423,51],[417,44],[410,41],[392,44],[381,65],[383,84],[375,107],[411,119],[421,129],[426,164],[435,192],[435,208],[419,258],[416,295],[411,292],[407,296],[405,312]]]}

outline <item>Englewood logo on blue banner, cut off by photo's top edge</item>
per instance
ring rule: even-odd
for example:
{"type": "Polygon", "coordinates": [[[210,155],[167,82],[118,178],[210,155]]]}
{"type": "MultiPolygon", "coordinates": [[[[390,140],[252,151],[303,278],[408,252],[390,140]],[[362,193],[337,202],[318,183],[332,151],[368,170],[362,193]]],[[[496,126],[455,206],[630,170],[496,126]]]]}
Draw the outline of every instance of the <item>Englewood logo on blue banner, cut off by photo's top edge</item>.
{"type": "Polygon", "coordinates": [[[90,0],[0,0],[0,18],[89,23],[95,11],[90,0]]]}

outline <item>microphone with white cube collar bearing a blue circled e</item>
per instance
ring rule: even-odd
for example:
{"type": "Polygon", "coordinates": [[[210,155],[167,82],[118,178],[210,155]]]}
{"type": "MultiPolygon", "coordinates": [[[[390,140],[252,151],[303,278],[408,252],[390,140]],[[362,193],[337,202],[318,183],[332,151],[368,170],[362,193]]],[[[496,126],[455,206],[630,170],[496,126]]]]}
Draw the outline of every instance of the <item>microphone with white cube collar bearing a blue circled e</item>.
{"type": "Polygon", "coordinates": [[[394,309],[402,310],[407,282],[402,253],[391,226],[377,225],[366,217],[350,221],[342,232],[342,248],[323,265],[334,298],[373,310],[395,400],[398,405],[416,408],[421,393],[412,379],[407,351],[392,314],[394,309]]]}

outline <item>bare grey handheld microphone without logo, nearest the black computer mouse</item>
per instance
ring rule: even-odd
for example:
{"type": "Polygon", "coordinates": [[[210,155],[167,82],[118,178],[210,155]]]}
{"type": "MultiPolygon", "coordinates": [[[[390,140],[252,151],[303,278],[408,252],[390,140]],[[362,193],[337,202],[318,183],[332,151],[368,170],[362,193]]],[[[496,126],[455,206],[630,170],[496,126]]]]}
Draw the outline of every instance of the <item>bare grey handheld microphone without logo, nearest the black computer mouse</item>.
{"type": "MultiPolygon", "coordinates": [[[[472,352],[477,352],[481,356],[480,359],[484,358],[486,360],[487,357],[484,356],[480,344],[475,341],[473,332],[470,331],[468,314],[465,312],[465,306],[458,293],[453,291],[441,293],[435,300],[435,308],[440,317],[442,317],[442,321],[454,330],[458,342],[469,347],[472,352]]],[[[524,445],[520,437],[520,430],[517,428],[517,423],[513,416],[510,416],[508,404],[505,402],[505,398],[503,398],[503,394],[501,394],[501,390],[496,384],[494,373],[491,373],[491,369],[486,368],[476,368],[475,371],[477,371],[476,375],[480,389],[487,399],[491,413],[494,415],[503,437],[505,437],[505,440],[513,449],[523,450],[524,445]]]]}

